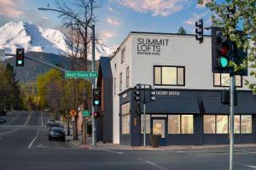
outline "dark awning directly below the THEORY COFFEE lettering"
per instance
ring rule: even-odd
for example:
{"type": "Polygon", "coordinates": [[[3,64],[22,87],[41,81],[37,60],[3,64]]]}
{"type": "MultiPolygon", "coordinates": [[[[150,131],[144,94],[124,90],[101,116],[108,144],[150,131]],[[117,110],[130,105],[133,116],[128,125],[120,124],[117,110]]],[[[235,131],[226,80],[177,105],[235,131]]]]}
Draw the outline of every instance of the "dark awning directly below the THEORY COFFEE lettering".
{"type": "Polygon", "coordinates": [[[157,97],[146,105],[147,113],[200,113],[195,98],[182,98],[179,96],[157,97]]]}

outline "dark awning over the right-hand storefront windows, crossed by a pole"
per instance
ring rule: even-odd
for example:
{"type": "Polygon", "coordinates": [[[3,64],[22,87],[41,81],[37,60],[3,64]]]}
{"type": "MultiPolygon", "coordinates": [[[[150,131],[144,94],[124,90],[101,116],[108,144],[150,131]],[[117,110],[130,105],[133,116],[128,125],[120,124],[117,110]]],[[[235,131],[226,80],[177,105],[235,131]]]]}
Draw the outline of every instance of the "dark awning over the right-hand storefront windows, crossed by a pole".
{"type": "MultiPolygon", "coordinates": [[[[217,97],[202,99],[206,114],[230,114],[230,105],[223,105],[217,97]]],[[[235,114],[256,114],[256,101],[253,98],[238,98],[235,114]]]]}

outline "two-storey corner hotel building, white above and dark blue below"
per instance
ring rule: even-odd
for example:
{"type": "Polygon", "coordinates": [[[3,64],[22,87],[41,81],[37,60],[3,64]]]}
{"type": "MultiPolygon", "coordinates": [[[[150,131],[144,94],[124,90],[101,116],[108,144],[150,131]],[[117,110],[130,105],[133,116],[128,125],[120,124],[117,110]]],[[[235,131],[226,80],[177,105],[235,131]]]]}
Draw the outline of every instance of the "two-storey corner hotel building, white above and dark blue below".
{"type": "MultiPolygon", "coordinates": [[[[104,70],[111,74],[99,77],[97,87],[109,108],[102,109],[98,126],[109,118],[111,123],[98,128],[108,141],[143,145],[145,130],[147,144],[150,133],[160,133],[162,145],[229,143],[230,108],[221,104],[221,91],[229,88],[230,76],[212,73],[211,37],[199,44],[194,35],[131,32],[112,58],[101,59],[100,75],[104,70]],[[151,84],[156,92],[146,105],[146,129],[134,99],[137,83],[151,84]]],[[[256,101],[245,80],[253,77],[236,76],[236,144],[256,143],[256,101]]]]}

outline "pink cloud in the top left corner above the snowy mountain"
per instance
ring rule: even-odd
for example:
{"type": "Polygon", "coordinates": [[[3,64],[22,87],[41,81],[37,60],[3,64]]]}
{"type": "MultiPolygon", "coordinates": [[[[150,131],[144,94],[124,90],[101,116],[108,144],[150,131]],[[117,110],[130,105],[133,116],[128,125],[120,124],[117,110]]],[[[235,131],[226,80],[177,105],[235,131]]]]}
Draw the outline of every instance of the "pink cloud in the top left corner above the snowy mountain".
{"type": "Polygon", "coordinates": [[[10,18],[18,18],[20,14],[23,14],[24,11],[15,8],[20,4],[24,5],[22,0],[0,0],[0,15],[4,15],[10,18]]]}

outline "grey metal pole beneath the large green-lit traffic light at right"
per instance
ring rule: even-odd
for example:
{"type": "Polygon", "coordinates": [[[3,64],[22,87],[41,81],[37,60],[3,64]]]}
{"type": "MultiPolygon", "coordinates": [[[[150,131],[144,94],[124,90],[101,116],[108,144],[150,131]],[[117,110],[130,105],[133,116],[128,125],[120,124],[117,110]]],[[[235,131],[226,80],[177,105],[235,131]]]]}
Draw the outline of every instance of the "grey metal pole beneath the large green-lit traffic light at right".
{"type": "Polygon", "coordinates": [[[233,170],[234,157],[234,91],[235,77],[230,73],[230,170],[233,170]]]}

